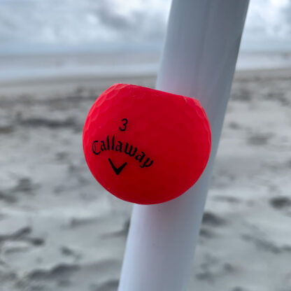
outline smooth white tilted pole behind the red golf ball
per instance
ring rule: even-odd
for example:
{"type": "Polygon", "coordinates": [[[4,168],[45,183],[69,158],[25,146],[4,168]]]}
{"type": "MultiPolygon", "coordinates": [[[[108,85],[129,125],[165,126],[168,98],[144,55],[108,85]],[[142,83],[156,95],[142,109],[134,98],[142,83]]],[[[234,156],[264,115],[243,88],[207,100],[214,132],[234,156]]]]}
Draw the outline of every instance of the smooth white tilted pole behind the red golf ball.
{"type": "Polygon", "coordinates": [[[157,89],[199,99],[211,124],[211,157],[187,193],[134,205],[119,291],[187,287],[247,9],[248,0],[173,0],[157,89]]]}

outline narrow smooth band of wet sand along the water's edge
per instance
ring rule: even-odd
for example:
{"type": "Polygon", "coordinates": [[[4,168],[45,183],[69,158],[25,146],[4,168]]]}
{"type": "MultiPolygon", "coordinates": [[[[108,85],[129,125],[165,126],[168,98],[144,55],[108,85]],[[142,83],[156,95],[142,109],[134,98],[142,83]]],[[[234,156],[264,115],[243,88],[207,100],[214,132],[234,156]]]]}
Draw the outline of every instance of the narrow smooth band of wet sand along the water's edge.
{"type": "MultiPolygon", "coordinates": [[[[234,80],[239,78],[291,78],[291,68],[274,69],[243,69],[236,70],[234,80]]],[[[51,76],[43,78],[27,78],[20,80],[0,80],[0,99],[6,94],[18,96],[20,94],[36,94],[43,92],[46,94],[62,94],[62,92],[76,92],[92,88],[99,94],[114,83],[134,83],[155,87],[157,74],[148,71],[140,73],[116,73],[116,74],[80,74],[78,76],[51,76]]]]}

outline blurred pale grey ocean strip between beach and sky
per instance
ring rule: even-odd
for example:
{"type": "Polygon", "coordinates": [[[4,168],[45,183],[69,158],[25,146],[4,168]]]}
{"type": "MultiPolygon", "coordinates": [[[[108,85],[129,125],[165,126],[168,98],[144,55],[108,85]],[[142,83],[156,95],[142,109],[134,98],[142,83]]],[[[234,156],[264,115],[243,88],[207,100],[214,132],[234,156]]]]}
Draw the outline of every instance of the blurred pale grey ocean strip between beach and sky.
{"type": "MultiPolygon", "coordinates": [[[[156,75],[160,50],[34,52],[0,55],[0,83],[56,78],[156,75]]],[[[291,67],[291,52],[243,52],[236,69],[291,67]]]]}

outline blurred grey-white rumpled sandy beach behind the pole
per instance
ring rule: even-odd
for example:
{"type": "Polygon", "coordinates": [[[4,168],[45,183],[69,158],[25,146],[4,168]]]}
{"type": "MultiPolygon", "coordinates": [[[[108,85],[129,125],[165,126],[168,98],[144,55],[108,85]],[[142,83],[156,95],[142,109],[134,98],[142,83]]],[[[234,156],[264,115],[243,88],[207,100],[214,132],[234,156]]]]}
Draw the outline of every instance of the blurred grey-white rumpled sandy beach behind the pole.
{"type": "MultiPolygon", "coordinates": [[[[1,85],[0,291],[117,290],[132,206],[92,178],[81,136],[120,81],[155,76],[1,85]]],[[[291,70],[236,73],[189,290],[291,290],[290,126],[291,70]]]]}

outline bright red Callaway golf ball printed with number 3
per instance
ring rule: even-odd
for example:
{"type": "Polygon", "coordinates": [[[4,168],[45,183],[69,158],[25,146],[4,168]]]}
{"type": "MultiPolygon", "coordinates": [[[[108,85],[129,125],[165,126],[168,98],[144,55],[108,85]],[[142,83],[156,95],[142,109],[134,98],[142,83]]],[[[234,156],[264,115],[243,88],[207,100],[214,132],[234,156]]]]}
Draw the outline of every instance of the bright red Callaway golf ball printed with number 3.
{"type": "Polygon", "coordinates": [[[201,176],[211,129],[199,101],[115,84],[94,102],[83,130],[93,176],[116,197],[137,204],[174,199],[201,176]]]}

